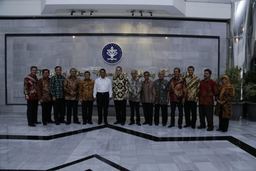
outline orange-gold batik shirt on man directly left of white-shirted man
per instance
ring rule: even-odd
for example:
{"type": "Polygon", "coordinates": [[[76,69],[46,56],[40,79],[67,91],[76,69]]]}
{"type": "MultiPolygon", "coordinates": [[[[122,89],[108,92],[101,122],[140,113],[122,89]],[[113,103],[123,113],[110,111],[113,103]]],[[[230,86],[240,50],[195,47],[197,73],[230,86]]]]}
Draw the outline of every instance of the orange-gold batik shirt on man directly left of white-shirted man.
{"type": "Polygon", "coordinates": [[[79,83],[79,99],[82,101],[93,101],[94,80],[83,79],[79,83]]]}

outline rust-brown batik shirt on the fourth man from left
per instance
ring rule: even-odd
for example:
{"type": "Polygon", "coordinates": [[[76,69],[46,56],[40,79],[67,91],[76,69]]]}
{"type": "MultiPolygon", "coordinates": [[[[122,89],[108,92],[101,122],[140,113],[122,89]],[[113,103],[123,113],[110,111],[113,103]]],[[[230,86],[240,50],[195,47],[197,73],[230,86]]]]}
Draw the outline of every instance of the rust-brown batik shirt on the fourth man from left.
{"type": "Polygon", "coordinates": [[[65,91],[65,99],[66,100],[79,100],[78,96],[78,88],[79,88],[79,82],[80,78],[74,77],[71,78],[71,76],[68,76],[64,80],[64,91],[65,91]],[[71,92],[76,92],[75,96],[71,96],[71,92]]]}

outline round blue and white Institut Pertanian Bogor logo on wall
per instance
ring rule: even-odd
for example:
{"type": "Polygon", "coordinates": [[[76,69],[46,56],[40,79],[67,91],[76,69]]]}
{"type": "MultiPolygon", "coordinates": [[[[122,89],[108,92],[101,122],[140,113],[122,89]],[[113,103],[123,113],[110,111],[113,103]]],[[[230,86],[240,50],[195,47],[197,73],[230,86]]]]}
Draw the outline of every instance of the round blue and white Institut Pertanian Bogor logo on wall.
{"type": "Polygon", "coordinates": [[[102,59],[108,64],[116,64],[123,57],[122,48],[115,43],[106,44],[101,51],[102,59]]]}

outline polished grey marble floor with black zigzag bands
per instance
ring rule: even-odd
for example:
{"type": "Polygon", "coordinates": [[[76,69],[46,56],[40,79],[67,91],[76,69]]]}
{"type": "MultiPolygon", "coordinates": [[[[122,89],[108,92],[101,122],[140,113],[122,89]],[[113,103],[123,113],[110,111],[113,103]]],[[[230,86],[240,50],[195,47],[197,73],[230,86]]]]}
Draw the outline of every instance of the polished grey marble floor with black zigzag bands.
{"type": "Polygon", "coordinates": [[[26,114],[0,114],[0,170],[256,170],[256,122],[246,118],[226,133],[216,116],[211,132],[115,121],[29,127],[26,114]]]}

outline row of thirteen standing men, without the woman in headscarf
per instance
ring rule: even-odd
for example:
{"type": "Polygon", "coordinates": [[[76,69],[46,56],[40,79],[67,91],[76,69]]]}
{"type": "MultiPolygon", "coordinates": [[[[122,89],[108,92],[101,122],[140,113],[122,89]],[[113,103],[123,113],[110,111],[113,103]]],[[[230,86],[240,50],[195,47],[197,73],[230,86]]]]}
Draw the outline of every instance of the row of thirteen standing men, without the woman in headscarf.
{"type": "Polygon", "coordinates": [[[149,79],[150,73],[144,72],[144,81],[137,77],[137,71],[131,71],[129,80],[122,75],[122,68],[116,67],[115,76],[112,82],[106,78],[105,69],[100,70],[100,77],[95,81],[90,79],[90,72],[84,73],[85,79],[76,77],[76,69],[70,69],[70,76],[64,77],[61,67],[55,67],[55,75],[49,78],[49,70],[42,71],[43,77],[39,80],[36,77],[37,68],[31,67],[31,74],[24,80],[24,94],[27,100],[27,119],[29,126],[35,126],[41,122],[37,121],[38,101],[42,106],[43,125],[47,123],[71,123],[73,110],[73,121],[81,124],[77,117],[78,101],[82,103],[83,124],[93,124],[92,110],[93,101],[97,102],[98,124],[102,121],[107,125],[109,101],[114,99],[116,112],[116,122],[114,124],[125,125],[126,122],[126,102],[130,104],[131,116],[129,125],[135,124],[134,115],[136,112],[136,124],[140,123],[139,105],[142,103],[145,122],[142,125],[152,125],[153,108],[155,105],[154,123],[159,125],[159,110],[162,112],[162,125],[166,126],[168,119],[167,105],[171,105],[171,124],[169,128],[175,126],[175,109],[178,108],[178,128],[182,129],[183,107],[185,113],[186,127],[196,128],[196,108],[199,101],[200,126],[198,129],[206,127],[205,117],[208,123],[207,131],[213,130],[213,96],[218,93],[217,84],[211,80],[211,70],[204,70],[204,80],[194,74],[194,67],[188,67],[188,75],[184,78],[180,76],[180,69],[174,69],[174,77],[167,81],[164,79],[163,71],[158,73],[159,79],[154,82],[149,79]],[[127,97],[127,94],[129,96],[127,97]],[[54,120],[51,119],[51,110],[54,110],[54,120]],[[67,107],[67,121],[64,120],[67,107]],[[102,113],[103,109],[103,113],[102,113]],[[190,118],[191,116],[191,118],[190,118]]]}

